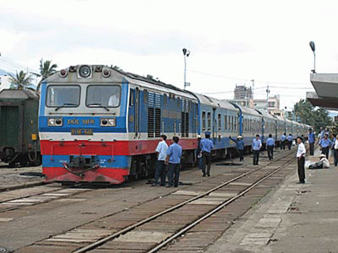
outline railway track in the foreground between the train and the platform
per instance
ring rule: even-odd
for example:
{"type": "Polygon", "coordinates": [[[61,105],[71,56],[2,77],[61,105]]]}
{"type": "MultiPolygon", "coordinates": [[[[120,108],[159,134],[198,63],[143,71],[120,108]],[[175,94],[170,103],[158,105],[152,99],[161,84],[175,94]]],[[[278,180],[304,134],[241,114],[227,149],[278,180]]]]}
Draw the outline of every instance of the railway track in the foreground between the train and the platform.
{"type": "MultiPolygon", "coordinates": [[[[211,241],[211,235],[217,238],[220,231],[224,231],[283,179],[282,168],[292,162],[291,155],[294,157],[294,152],[284,153],[263,166],[243,167],[230,174],[211,176],[194,183],[187,190],[184,188],[142,202],[123,212],[105,216],[65,233],[35,242],[34,245],[63,246],[74,253],[123,252],[123,250],[158,252],[177,245],[173,242],[179,239],[189,238],[190,235],[185,235],[189,234],[189,231],[194,231],[196,227],[209,224],[211,228],[207,229],[208,233],[201,233],[208,238],[201,240],[207,245],[211,241]],[[249,197],[249,201],[243,201],[246,197],[249,197]],[[217,224],[215,226],[222,227],[223,230],[211,233],[213,223],[208,223],[209,220],[218,220],[214,225],[217,224]]],[[[205,247],[200,246],[199,249],[205,247]]]]}

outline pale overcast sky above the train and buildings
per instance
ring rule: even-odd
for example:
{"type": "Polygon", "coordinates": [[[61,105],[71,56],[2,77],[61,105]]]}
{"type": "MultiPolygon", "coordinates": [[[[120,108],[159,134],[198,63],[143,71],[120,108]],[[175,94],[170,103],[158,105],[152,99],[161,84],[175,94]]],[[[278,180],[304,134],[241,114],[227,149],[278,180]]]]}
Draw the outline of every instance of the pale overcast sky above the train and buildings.
{"type": "Polygon", "coordinates": [[[0,0],[0,69],[59,70],[118,65],[188,90],[233,98],[237,85],[254,98],[280,95],[293,108],[314,91],[317,72],[338,72],[337,1],[19,1],[0,0]]]}

